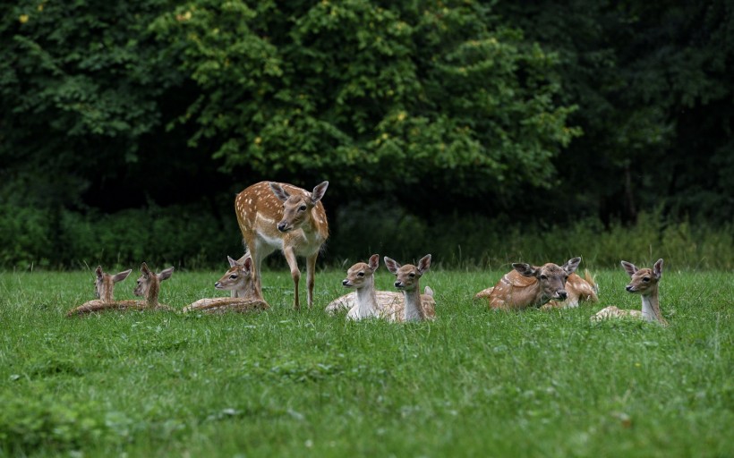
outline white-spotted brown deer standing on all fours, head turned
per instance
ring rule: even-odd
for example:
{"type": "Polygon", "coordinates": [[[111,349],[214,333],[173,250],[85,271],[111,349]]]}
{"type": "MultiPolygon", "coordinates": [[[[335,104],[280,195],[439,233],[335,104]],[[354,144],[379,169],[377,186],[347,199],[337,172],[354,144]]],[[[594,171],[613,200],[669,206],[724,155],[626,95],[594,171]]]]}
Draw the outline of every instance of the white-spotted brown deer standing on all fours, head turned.
{"type": "Polygon", "coordinates": [[[313,304],[313,276],[321,245],[329,238],[329,222],[321,203],[329,182],[312,192],[292,184],[258,182],[237,194],[235,212],[243,240],[252,257],[252,282],[262,297],[260,267],[275,250],[282,250],[294,284],[294,309],[300,308],[298,282],[301,272],[296,256],[306,258],[308,306],[313,304]]]}

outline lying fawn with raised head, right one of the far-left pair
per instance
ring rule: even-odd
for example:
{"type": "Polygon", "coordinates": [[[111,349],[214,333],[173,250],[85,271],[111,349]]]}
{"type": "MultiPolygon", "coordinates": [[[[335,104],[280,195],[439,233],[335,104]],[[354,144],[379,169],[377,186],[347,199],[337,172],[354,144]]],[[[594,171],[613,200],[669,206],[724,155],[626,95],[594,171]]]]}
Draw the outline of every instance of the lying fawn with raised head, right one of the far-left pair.
{"type": "Polygon", "coordinates": [[[102,310],[172,310],[167,305],[158,303],[158,293],[160,293],[160,282],[170,278],[174,273],[174,267],[168,267],[161,271],[160,274],[151,272],[148,265],[143,262],[141,265],[141,276],[135,285],[133,294],[143,296],[142,301],[98,301],[93,304],[84,304],[75,309],[69,310],[67,317],[74,315],[82,315],[102,310]]]}

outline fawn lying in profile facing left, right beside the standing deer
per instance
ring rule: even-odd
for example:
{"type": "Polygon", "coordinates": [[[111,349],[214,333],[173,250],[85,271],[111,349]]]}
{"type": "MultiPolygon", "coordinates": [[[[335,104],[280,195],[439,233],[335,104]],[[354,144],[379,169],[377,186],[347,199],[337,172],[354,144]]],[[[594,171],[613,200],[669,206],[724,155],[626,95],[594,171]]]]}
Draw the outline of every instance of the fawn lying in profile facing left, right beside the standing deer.
{"type": "Polygon", "coordinates": [[[232,297],[218,297],[200,299],[183,308],[183,313],[203,311],[205,313],[224,313],[226,311],[246,312],[252,310],[267,310],[268,302],[259,297],[252,282],[252,258],[244,256],[236,260],[226,257],[229,269],[214,287],[218,290],[230,291],[232,297]]]}

